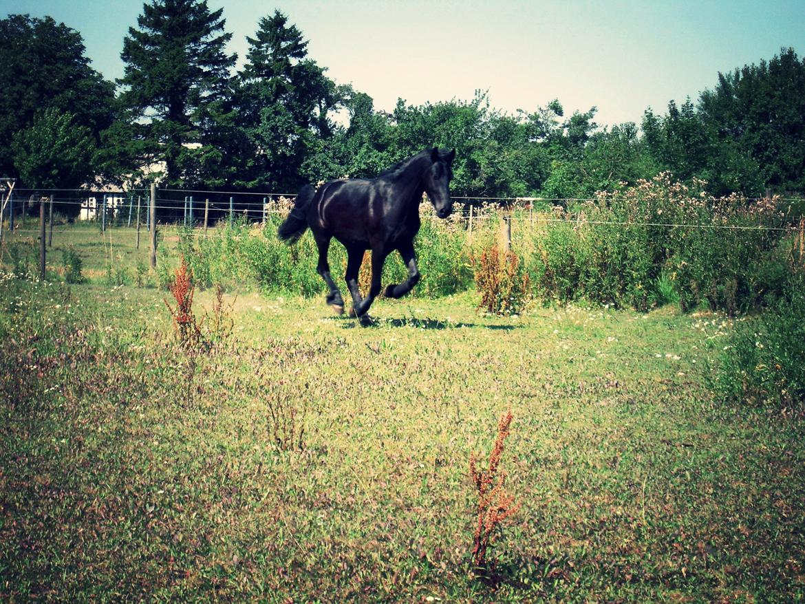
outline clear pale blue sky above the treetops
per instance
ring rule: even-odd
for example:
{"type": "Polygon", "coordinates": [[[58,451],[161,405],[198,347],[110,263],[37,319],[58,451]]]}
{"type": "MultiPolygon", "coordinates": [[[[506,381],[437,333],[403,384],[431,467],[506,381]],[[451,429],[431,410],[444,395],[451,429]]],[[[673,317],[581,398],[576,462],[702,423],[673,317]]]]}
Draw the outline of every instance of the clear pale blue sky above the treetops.
{"type": "MultiPolygon", "coordinates": [[[[514,114],[558,98],[566,114],[640,122],[647,107],[693,101],[718,72],[793,47],[805,55],[805,0],[208,0],[224,6],[229,51],[242,60],[258,20],[275,9],[309,40],[308,56],[375,109],[470,100],[514,114]]],[[[0,14],[50,15],[81,32],[104,77],[122,76],[123,37],[142,2],[0,0],[0,14]]]]}

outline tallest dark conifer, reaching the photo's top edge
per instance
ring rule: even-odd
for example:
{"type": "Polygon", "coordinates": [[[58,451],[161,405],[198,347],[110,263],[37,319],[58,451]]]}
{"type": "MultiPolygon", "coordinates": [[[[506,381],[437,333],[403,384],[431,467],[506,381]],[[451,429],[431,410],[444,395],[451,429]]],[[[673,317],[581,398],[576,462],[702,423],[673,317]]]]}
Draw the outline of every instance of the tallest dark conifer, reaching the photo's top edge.
{"type": "Polygon", "coordinates": [[[129,28],[118,84],[134,130],[130,149],[142,163],[165,162],[167,184],[217,184],[225,179],[231,129],[230,76],[237,56],[227,55],[223,9],[206,0],[153,0],[143,6],[138,29],[129,28]]]}

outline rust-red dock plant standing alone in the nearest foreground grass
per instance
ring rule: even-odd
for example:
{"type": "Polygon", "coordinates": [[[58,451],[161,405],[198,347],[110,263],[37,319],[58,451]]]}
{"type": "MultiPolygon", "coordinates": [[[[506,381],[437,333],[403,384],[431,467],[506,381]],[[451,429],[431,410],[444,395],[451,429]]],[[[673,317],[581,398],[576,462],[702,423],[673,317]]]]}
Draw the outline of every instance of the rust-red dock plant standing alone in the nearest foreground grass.
{"type": "MultiPolygon", "coordinates": [[[[506,472],[501,471],[498,476],[498,466],[503,456],[503,441],[509,436],[511,425],[511,410],[501,416],[497,424],[497,439],[492,453],[489,455],[489,468],[478,470],[475,453],[469,456],[469,474],[475,482],[478,494],[477,525],[475,529],[475,544],[473,547],[473,562],[477,569],[486,570],[489,564],[486,552],[492,540],[495,529],[510,515],[518,511],[519,505],[514,503],[514,497],[506,493],[506,472]]],[[[494,568],[494,561],[491,567],[494,568]]]]}

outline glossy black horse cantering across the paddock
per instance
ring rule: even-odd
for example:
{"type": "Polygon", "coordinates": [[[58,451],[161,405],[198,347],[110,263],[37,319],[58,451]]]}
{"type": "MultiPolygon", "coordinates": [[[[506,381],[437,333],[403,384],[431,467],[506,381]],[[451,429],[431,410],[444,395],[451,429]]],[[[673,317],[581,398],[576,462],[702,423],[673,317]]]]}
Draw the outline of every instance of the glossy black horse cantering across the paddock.
{"type": "Polygon", "coordinates": [[[385,295],[405,296],[419,281],[414,253],[414,237],[419,231],[419,202],[427,192],[436,215],[446,218],[452,212],[450,180],[456,150],[433,147],[395,164],[374,180],[331,180],[318,190],[306,185],[296,197],[294,209],[279,226],[279,238],[295,242],[310,227],[319,247],[319,275],[330,292],[327,302],[341,314],[344,300],[330,276],[327,253],[335,237],[347,249],[346,281],[353,297],[350,314],[363,317],[380,293],[380,279],[386,256],[398,250],[408,267],[405,283],[389,285],[385,295]],[[372,250],[372,285],[361,300],[357,274],[365,250],[372,250]]]}

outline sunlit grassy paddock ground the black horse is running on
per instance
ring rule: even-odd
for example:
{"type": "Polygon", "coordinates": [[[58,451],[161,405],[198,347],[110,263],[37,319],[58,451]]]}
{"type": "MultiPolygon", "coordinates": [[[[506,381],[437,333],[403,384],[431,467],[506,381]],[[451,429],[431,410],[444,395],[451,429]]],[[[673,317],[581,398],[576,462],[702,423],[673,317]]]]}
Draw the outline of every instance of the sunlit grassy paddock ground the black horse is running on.
{"type": "Polygon", "coordinates": [[[0,278],[5,601],[805,600],[802,418],[713,398],[725,316],[242,293],[188,354],[97,247],[92,283],[0,278]],[[509,409],[481,577],[469,457],[509,409]]]}

